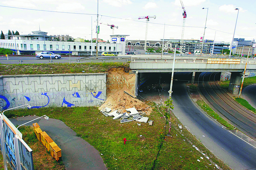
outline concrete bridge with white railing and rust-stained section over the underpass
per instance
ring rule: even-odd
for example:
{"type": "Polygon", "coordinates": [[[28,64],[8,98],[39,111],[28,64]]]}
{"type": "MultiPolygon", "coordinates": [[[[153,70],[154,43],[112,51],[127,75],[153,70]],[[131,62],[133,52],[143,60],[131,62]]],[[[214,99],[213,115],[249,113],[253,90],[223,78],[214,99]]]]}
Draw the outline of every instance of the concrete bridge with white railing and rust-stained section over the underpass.
{"type": "MultiPolygon", "coordinates": [[[[131,57],[130,68],[137,73],[168,73],[172,72],[174,57],[131,57]]],[[[193,72],[192,82],[195,74],[201,72],[231,72],[229,90],[238,94],[241,76],[245,69],[256,71],[256,59],[226,58],[226,57],[175,57],[174,72],[193,72]]]]}

